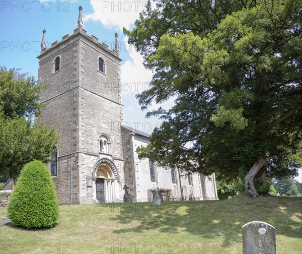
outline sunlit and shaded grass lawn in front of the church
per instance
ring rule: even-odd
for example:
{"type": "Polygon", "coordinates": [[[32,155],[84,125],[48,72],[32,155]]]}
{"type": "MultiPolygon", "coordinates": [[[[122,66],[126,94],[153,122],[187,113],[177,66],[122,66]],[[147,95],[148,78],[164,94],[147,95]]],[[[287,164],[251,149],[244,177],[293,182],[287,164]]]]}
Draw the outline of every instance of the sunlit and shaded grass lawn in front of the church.
{"type": "Polygon", "coordinates": [[[250,221],[276,228],[277,253],[302,252],[302,198],[239,196],[60,206],[51,229],[0,227],[0,253],[242,253],[242,226],[250,221]]]}

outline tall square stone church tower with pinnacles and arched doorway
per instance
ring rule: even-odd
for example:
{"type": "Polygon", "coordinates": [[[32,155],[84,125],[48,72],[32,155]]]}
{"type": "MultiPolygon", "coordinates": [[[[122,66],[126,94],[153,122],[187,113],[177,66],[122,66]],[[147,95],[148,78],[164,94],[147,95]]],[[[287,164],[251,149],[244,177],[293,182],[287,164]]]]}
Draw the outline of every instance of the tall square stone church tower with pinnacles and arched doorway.
{"type": "Polygon", "coordinates": [[[111,50],[78,27],[51,47],[43,30],[39,59],[41,84],[48,84],[40,121],[55,126],[61,140],[51,165],[59,202],[122,202],[123,154],[118,35],[111,50]]]}

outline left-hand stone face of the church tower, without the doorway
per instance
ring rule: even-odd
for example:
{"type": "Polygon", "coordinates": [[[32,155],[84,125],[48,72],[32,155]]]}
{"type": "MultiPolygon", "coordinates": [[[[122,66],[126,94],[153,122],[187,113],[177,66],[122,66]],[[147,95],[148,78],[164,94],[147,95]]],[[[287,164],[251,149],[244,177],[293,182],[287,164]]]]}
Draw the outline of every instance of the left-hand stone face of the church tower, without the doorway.
{"type": "Polygon", "coordinates": [[[79,203],[79,177],[75,164],[75,152],[78,150],[78,73],[79,43],[74,38],[60,47],[40,57],[39,78],[42,84],[48,84],[43,91],[41,102],[46,109],[41,114],[41,123],[55,126],[61,135],[58,142],[57,176],[53,177],[58,200],[61,204],[70,202],[70,160],[71,203],[79,203]],[[54,59],[60,56],[60,70],[53,71],[54,59]]]}

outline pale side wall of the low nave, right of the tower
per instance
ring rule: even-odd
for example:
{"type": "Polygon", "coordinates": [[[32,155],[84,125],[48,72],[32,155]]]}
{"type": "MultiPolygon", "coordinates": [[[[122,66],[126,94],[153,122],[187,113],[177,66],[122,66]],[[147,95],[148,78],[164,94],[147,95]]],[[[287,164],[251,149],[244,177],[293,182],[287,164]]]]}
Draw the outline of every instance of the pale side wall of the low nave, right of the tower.
{"type": "Polygon", "coordinates": [[[197,173],[191,175],[192,182],[189,184],[186,171],[175,170],[175,180],[172,182],[171,170],[158,165],[155,166],[156,181],[150,178],[149,160],[139,160],[136,148],[146,146],[149,140],[146,136],[136,133],[134,130],[122,127],[123,154],[125,161],[125,182],[129,187],[128,192],[135,202],[147,202],[148,189],[164,188],[171,189],[173,199],[178,200],[215,200],[216,185],[214,174],[211,180],[199,176],[197,173]]]}

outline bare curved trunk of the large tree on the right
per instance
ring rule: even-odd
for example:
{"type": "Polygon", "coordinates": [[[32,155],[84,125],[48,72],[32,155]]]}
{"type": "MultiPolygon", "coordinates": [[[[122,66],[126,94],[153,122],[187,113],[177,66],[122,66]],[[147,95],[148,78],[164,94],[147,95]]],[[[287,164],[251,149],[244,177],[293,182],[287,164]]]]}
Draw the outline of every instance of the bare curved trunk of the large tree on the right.
{"type": "Polygon", "coordinates": [[[257,193],[257,190],[254,185],[254,178],[257,175],[257,173],[260,171],[260,169],[269,163],[268,155],[269,154],[266,153],[265,156],[263,156],[258,161],[256,161],[254,165],[251,167],[250,171],[247,173],[244,182],[244,191],[247,199],[253,199],[259,197],[259,194],[257,193]]]}

